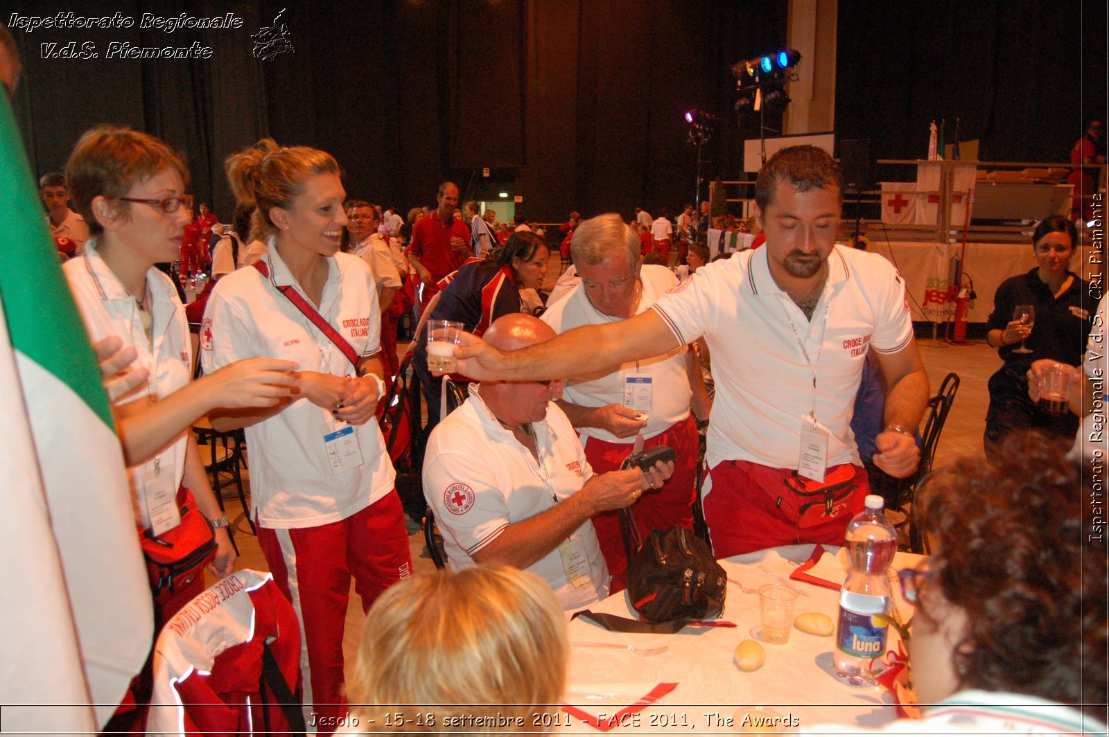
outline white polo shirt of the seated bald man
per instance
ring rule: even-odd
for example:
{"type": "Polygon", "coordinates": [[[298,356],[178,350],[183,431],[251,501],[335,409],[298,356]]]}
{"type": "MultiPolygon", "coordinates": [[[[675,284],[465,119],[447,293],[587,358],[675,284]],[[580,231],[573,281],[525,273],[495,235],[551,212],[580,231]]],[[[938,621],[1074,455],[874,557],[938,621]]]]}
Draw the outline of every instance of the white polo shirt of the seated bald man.
{"type": "MultiPolygon", "coordinates": [[[[454,569],[476,565],[470,555],[505,528],[552,509],[593,475],[570,420],[557,405],[547,406],[545,421],[531,424],[542,459],[537,463],[494,418],[479,391],[471,386],[469,399],[436,426],[424,455],[424,497],[454,569]]],[[[568,612],[609,594],[609,570],[589,520],[528,571],[550,585],[568,612]],[[562,563],[571,547],[582,574],[588,573],[577,586],[562,563]]]]}

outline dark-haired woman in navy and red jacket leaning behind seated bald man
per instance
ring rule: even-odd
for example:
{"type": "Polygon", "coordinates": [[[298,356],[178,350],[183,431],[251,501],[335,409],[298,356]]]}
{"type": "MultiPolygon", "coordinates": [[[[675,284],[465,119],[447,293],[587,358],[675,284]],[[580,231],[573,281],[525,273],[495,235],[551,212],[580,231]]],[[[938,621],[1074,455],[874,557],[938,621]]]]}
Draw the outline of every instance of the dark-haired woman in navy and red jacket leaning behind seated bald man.
{"type": "MultiPolygon", "coordinates": [[[[513,233],[503,246],[495,246],[484,259],[470,258],[439,282],[439,294],[424,310],[416,328],[416,372],[427,399],[427,431],[439,423],[439,389],[442,378],[427,370],[425,321],[456,320],[468,332],[480,336],[502,315],[533,311],[521,291],[538,289],[547,278],[551,252],[542,237],[528,231],[513,233]]],[[[532,295],[533,297],[535,295],[532,295]]]]}

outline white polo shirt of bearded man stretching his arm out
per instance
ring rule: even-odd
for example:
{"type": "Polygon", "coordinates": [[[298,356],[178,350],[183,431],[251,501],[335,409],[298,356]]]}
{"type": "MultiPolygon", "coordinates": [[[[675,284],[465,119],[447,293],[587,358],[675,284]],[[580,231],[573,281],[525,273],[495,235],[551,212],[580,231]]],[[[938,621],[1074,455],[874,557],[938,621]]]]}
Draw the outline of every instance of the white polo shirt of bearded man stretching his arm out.
{"type": "Polygon", "coordinates": [[[654,305],[682,344],[703,335],[712,351],[710,468],[747,460],[796,469],[814,393],[828,465],[858,463],[851,413],[867,347],[892,354],[913,338],[904,280],[882,256],[835,246],[810,324],[774,282],[766,254],[745,250],[703,266],[654,305]]]}

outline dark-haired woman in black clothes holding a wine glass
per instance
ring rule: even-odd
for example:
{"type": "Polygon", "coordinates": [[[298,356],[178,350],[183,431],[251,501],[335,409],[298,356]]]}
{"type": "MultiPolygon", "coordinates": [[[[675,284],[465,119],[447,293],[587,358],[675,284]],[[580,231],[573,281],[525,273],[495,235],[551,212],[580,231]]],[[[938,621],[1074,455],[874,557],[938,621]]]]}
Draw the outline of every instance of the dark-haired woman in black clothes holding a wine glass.
{"type": "Polygon", "coordinates": [[[1078,234],[1065,217],[1048,217],[1032,234],[1036,268],[1001,283],[986,340],[1005,364],[989,379],[985,443],[993,450],[1003,438],[1036,429],[1049,436],[1074,437],[1077,418],[1051,413],[1028,397],[1028,367],[1048,358],[1080,362],[1096,303],[1089,284],[1070,270],[1078,234]]]}

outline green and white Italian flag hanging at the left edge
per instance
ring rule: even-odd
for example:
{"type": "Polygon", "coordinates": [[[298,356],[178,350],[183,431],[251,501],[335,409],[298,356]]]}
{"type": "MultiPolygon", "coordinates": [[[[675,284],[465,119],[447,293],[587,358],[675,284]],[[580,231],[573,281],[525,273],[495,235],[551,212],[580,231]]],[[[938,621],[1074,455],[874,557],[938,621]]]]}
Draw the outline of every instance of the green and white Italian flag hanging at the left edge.
{"type": "Polygon", "coordinates": [[[145,662],[153,612],[108,397],[42,212],[0,94],[3,729],[89,733],[145,662]]]}

